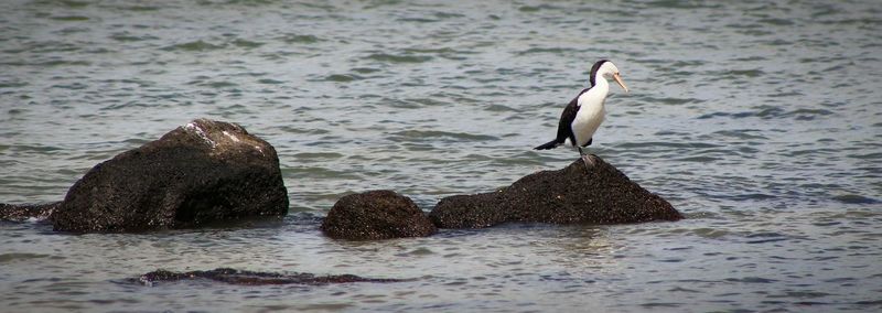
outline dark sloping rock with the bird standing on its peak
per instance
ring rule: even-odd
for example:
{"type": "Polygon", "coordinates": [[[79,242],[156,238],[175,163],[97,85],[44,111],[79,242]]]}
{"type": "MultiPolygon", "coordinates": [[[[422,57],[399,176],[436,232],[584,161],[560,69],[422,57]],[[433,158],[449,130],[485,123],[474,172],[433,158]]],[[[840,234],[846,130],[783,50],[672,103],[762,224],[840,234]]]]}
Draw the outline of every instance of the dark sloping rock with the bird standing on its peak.
{"type": "Polygon", "coordinates": [[[440,228],[477,228],[509,222],[623,224],[682,218],[667,201],[593,155],[558,171],[527,175],[492,193],[442,198],[429,214],[440,228]]]}

